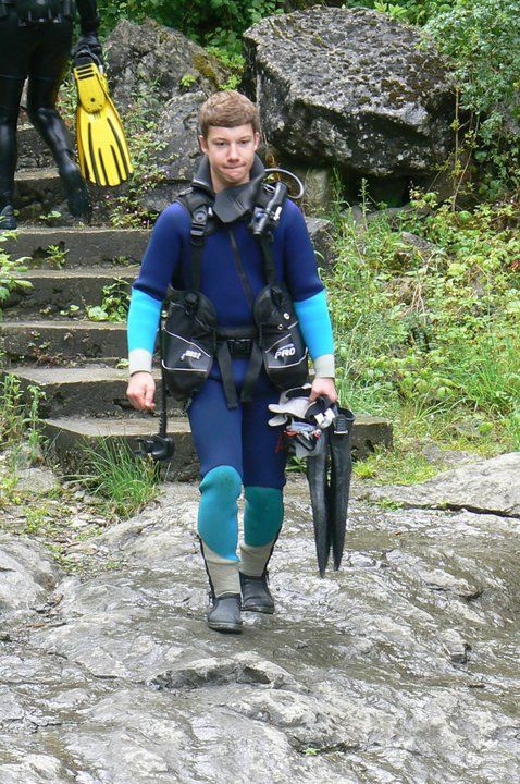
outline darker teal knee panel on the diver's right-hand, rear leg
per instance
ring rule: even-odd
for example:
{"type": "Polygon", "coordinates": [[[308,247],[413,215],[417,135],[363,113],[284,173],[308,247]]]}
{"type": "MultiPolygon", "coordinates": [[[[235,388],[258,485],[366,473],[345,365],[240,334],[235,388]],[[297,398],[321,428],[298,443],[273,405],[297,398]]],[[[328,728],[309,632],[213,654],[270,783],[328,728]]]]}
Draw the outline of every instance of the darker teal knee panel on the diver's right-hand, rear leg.
{"type": "Polygon", "coordinates": [[[244,541],[249,547],[264,547],[276,539],[284,519],[282,490],[248,487],[245,490],[244,541]]]}

